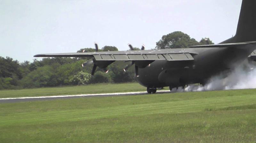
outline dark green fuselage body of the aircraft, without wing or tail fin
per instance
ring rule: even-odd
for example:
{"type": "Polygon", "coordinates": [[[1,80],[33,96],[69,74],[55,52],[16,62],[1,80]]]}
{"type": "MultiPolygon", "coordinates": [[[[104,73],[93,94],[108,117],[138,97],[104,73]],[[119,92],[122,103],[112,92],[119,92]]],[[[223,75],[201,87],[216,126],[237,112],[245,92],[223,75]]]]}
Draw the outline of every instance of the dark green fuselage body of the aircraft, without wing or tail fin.
{"type": "MultiPolygon", "coordinates": [[[[181,49],[182,50],[182,49],[181,49]]],[[[192,61],[154,61],[139,69],[137,81],[150,88],[204,84],[209,78],[241,64],[254,48],[186,48],[196,51],[192,61]]]]}

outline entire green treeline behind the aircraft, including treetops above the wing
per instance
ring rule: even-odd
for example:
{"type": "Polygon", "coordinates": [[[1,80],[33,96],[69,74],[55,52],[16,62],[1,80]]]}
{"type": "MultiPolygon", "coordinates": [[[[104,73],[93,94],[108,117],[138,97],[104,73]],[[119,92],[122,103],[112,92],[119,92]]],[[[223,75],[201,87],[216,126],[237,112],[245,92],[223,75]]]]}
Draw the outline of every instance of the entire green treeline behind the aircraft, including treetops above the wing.
{"type": "MultiPolygon", "coordinates": [[[[208,38],[199,42],[191,39],[182,32],[173,32],[164,35],[156,43],[156,49],[165,48],[186,48],[193,45],[213,44],[208,38]]],[[[139,48],[134,48],[139,49],[139,48]]],[[[77,52],[93,52],[93,48],[80,49],[77,52]]],[[[100,51],[118,51],[114,46],[105,46],[100,51]]],[[[104,82],[131,82],[134,81],[134,66],[126,72],[123,71],[125,65],[122,61],[116,61],[108,66],[109,72],[106,74],[97,68],[95,75],[91,76],[93,64],[82,67],[82,64],[90,59],[54,57],[34,59],[18,62],[11,57],[0,57],[0,89],[22,89],[37,87],[56,87],[67,85],[84,85],[104,82]]]]}

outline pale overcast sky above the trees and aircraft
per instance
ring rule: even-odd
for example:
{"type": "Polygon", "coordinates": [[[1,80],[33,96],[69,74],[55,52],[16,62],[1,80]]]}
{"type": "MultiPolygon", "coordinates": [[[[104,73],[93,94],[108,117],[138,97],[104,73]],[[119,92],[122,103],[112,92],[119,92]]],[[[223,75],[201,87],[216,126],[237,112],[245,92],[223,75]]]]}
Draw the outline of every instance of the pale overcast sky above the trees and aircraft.
{"type": "MultiPolygon", "coordinates": [[[[0,56],[20,62],[43,53],[116,46],[156,47],[182,31],[219,43],[236,33],[242,0],[0,0],[0,56]]],[[[38,58],[40,59],[40,58],[38,58]]]]}

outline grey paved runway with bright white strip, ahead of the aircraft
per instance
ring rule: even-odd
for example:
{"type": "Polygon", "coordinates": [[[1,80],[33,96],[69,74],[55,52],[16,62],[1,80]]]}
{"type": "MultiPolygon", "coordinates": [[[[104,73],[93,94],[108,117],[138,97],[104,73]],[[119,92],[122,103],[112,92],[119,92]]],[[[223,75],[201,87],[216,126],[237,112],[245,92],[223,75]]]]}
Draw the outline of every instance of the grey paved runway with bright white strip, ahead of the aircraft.
{"type": "MultiPolygon", "coordinates": [[[[157,91],[156,94],[170,93],[170,90],[157,91]]],[[[124,96],[124,95],[143,95],[148,94],[144,92],[126,92],[126,93],[104,93],[104,94],[80,94],[80,95],[59,95],[59,96],[40,96],[40,97],[18,97],[18,98],[0,98],[0,103],[14,103],[14,102],[31,102],[54,99],[68,99],[81,97],[95,97],[95,96],[124,96]]]]}

